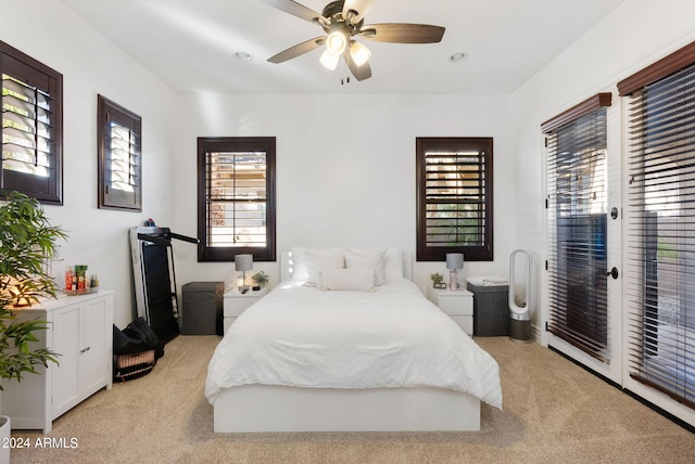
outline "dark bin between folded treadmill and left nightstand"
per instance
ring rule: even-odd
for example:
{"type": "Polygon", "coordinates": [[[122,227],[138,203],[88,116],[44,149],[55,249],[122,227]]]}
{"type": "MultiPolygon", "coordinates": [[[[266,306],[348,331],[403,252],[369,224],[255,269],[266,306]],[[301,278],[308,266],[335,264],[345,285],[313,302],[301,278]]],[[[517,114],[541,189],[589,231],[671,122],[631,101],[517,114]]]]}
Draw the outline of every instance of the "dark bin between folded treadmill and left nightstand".
{"type": "Polygon", "coordinates": [[[181,334],[223,335],[224,282],[189,282],[181,287],[181,334]]]}

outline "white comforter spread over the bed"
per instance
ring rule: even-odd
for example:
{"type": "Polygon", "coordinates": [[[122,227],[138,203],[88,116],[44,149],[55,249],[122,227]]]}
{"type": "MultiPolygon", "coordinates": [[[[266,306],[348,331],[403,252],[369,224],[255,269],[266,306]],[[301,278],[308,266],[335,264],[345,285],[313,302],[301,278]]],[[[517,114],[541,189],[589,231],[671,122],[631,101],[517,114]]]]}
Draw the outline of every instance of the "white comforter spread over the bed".
{"type": "Polygon", "coordinates": [[[372,292],[282,283],[247,309],[217,346],[205,396],[247,384],[441,387],[502,408],[500,371],[408,280],[372,292]]]}

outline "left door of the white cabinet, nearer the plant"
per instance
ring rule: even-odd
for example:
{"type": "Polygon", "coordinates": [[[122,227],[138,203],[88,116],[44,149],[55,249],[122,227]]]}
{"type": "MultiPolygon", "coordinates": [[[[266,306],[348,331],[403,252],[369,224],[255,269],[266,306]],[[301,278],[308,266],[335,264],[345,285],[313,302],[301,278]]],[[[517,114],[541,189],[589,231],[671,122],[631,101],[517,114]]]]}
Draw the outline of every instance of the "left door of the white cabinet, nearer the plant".
{"type": "Polygon", "coordinates": [[[53,370],[53,417],[79,401],[79,314],[80,305],[54,312],[53,350],[61,356],[53,370]]]}

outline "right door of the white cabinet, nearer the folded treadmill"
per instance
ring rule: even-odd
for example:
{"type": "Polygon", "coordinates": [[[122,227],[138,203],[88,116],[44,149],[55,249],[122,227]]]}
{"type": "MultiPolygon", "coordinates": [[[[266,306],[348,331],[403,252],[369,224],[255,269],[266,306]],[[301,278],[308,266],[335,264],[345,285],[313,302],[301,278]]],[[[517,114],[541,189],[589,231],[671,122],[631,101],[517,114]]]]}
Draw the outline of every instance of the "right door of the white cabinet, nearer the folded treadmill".
{"type": "MultiPolygon", "coordinates": [[[[108,352],[106,343],[111,338],[104,334],[105,327],[111,331],[111,322],[106,321],[109,313],[104,298],[87,301],[79,318],[79,385],[81,398],[98,391],[108,383],[108,352]]],[[[110,334],[111,332],[106,332],[110,334]]]]}

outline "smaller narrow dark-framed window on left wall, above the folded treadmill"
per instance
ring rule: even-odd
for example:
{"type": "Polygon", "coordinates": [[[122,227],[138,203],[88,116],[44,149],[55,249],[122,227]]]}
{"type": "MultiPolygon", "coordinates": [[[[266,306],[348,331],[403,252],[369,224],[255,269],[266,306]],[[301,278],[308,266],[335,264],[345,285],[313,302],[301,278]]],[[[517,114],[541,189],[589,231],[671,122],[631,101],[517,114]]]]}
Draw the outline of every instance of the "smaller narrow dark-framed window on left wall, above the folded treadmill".
{"type": "Polygon", "coordinates": [[[142,210],[140,116],[97,100],[99,207],[142,210]]]}

